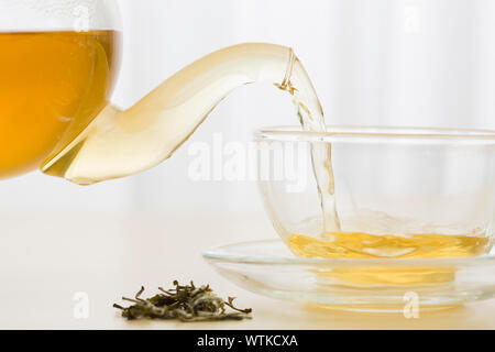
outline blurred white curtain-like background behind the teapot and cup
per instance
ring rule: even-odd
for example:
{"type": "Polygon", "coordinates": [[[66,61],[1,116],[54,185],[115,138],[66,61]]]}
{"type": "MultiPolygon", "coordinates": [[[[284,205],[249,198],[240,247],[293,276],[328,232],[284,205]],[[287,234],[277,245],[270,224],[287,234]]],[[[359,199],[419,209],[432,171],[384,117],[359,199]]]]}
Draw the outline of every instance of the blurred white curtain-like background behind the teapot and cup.
{"type": "MultiPolygon", "coordinates": [[[[194,59],[240,42],[293,46],[327,121],[495,129],[495,1],[121,0],[124,54],[113,101],[132,106],[194,59]]],[[[33,173],[0,183],[0,212],[262,211],[251,182],[191,182],[187,148],[295,124],[268,86],[235,91],[169,161],[127,179],[79,187],[33,173]]]]}

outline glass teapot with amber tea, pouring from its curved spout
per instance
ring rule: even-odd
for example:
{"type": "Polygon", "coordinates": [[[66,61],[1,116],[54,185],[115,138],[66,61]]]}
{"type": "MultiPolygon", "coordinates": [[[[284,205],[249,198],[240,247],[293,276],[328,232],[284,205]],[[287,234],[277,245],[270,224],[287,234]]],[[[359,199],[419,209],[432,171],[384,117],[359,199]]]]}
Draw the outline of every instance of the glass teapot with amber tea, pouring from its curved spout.
{"type": "MultiPolygon", "coordinates": [[[[40,168],[90,185],[147,169],[246,84],[304,95],[300,118],[321,112],[293,51],[261,43],[205,56],[120,110],[109,98],[121,35],[114,0],[0,1],[0,178],[40,168]]],[[[301,120],[322,128],[322,120],[301,120]]]]}

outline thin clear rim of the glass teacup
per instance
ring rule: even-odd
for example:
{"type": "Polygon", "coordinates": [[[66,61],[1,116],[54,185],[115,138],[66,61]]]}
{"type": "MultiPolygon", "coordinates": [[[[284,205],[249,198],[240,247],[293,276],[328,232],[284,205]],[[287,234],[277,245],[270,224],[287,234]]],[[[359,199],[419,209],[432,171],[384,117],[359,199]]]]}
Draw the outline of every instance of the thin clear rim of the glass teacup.
{"type": "Polygon", "coordinates": [[[258,141],[337,142],[343,140],[419,141],[495,144],[495,130],[418,127],[327,125],[327,132],[306,131],[296,125],[264,127],[255,131],[258,141]]]}

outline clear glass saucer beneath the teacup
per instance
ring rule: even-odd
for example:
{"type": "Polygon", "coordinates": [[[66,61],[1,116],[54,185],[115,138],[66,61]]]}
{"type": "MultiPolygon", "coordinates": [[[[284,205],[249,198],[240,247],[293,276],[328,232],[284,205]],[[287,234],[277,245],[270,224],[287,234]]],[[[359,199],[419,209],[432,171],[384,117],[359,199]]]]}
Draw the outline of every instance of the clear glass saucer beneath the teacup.
{"type": "Polygon", "coordinates": [[[442,309],[495,297],[495,255],[463,258],[301,258],[282,240],[204,252],[237,285],[273,298],[324,308],[403,311],[407,304],[442,309]]]}

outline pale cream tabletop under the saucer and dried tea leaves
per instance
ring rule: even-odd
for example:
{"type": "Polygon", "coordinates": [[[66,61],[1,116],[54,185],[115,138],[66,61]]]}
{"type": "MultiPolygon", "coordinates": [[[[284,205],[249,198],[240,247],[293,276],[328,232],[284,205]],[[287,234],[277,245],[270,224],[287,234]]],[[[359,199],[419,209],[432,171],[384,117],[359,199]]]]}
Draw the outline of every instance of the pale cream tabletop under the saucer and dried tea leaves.
{"type": "Polygon", "coordinates": [[[0,218],[0,329],[494,329],[495,300],[421,312],[419,319],[315,310],[245,292],[202,260],[204,249],[271,239],[263,217],[45,213],[0,218]],[[128,322],[112,308],[141,285],[151,293],[173,279],[210,283],[222,297],[252,307],[253,319],[208,323],[128,322]],[[74,295],[89,298],[74,317],[74,295]]]}

